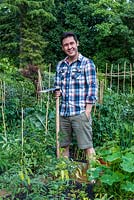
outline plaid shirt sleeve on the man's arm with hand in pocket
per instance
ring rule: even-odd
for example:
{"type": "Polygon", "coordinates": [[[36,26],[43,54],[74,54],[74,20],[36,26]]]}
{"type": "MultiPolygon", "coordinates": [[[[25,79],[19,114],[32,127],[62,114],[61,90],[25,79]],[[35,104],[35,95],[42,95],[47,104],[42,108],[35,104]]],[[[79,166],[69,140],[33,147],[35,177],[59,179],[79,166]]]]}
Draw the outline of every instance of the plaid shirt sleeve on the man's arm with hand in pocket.
{"type": "Polygon", "coordinates": [[[98,99],[98,83],[96,68],[92,60],[88,60],[85,66],[86,76],[86,103],[95,104],[98,99]]]}

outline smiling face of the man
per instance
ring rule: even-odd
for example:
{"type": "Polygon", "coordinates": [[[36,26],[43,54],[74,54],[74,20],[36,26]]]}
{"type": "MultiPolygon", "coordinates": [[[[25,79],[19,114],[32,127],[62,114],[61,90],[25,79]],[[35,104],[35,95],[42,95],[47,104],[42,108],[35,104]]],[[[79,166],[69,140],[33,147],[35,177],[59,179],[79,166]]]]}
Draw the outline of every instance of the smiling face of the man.
{"type": "Polygon", "coordinates": [[[78,42],[76,42],[73,36],[67,37],[62,41],[62,50],[69,57],[75,57],[78,54],[78,42]]]}

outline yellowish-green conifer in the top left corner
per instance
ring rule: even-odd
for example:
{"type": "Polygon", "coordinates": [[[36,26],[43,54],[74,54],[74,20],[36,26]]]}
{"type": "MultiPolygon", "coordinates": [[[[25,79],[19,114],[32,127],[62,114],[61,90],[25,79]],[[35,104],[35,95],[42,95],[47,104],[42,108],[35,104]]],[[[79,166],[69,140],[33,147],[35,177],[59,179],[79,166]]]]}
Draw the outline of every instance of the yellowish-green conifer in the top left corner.
{"type": "Polygon", "coordinates": [[[47,42],[43,29],[56,19],[51,14],[53,0],[4,0],[0,4],[0,52],[20,67],[41,65],[47,42]]]}

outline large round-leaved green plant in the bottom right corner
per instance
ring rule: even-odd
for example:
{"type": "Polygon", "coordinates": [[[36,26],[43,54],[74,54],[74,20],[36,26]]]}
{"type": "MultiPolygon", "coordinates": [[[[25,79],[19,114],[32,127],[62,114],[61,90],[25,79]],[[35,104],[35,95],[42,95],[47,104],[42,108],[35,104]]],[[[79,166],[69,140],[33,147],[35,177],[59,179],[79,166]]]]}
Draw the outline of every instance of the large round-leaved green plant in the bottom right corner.
{"type": "Polygon", "coordinates": [[[99,148],[97,153],[107,165],[96,162],[87,171],[89,179],[98,180],[95,185],[96,196],[99,197],[101,192],[101,195],[107,194],[107,198],[112,196],[115,200],[131,199],[134,193],[133,146],[122,151],[118,145],[109,142],[99,148]]]}

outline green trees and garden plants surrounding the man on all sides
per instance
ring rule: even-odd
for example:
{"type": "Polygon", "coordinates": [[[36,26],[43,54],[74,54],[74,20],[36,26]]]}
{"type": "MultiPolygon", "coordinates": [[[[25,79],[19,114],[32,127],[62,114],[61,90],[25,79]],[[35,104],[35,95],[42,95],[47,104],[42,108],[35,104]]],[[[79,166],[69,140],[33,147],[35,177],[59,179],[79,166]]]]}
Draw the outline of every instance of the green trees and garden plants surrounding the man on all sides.
{"type": "Polygon", "coordinates": [[[74,181],[82,171],[75,160],[84,158],[75,141],[71,160],[56,158],[55,99],[37,93],[39,70],[43,87],[53,86],[48,71],[54,72],[64,57],[63,31],[76,32],[80,52],[95,61],[99,80],[104,80],[106,63],[108,71],[111,64],[116,69],[124,61],[133,64],[133,21],[131,0],[1,0],[0,194],[6,190],[6,199],[133,199],[134,95],[129,78],[124,93],[115,92],[114,78],[103,103],[93,108],[97,160],[87,178],[96,180],[94,198],[86,183],[74,181]]]}

